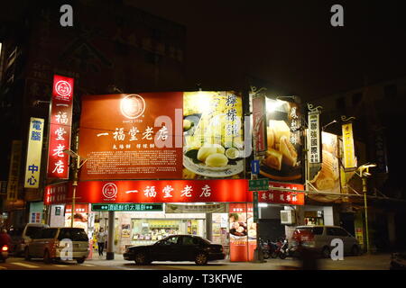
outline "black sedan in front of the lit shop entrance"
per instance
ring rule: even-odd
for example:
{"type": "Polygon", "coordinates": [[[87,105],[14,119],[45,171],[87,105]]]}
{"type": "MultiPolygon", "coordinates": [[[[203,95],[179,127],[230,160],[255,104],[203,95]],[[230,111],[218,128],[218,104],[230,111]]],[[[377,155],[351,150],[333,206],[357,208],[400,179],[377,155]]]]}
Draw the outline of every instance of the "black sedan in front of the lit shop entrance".
{"type": "Polygon", "coordinates": [[[223,246],[191,235],[172,235],[153,245],[128,247],[124,254],[125,260],[138,265],[152,261],[195,261],[197,265],[206,265],[208,261],[225,257],[223,246]]]}

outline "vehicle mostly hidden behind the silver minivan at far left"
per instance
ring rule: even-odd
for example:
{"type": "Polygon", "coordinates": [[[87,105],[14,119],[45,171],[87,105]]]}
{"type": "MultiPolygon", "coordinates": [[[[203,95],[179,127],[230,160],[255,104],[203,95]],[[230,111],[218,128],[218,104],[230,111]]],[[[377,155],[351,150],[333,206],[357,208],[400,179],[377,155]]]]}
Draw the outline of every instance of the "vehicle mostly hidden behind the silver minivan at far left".
{"type": "Polygon", "coordinates": [[[14,256],[22,256],[25,246],[32,240],[32,235],[45,228],[49,228],[49,226],[42,223],[28,223],[23,229],[10,229],[8,231],[12,238],[10,253],[13,253],[14,256]]]}

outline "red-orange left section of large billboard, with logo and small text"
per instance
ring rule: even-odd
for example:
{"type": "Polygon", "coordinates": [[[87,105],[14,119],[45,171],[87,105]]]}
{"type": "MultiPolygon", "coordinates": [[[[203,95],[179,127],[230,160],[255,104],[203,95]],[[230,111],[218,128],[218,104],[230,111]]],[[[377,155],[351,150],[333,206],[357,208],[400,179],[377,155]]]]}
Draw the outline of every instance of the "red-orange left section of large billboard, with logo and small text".
{"type": "Polygon", "coordinates": [[[181,178],[182,92],[88,95],[82,100],[80,180],[181,178]]]}

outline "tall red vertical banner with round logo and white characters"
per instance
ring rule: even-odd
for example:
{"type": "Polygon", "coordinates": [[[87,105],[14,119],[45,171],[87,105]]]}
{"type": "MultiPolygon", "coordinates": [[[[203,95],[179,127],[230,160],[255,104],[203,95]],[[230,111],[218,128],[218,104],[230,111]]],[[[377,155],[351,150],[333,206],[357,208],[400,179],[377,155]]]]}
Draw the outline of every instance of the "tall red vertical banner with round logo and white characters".
{"type": "Polygon", "coordinates": [[[72,126],[73,78],[53,77],[50,135],[48,150],[48,178],[69,178],[69,155],[72,126]]]}

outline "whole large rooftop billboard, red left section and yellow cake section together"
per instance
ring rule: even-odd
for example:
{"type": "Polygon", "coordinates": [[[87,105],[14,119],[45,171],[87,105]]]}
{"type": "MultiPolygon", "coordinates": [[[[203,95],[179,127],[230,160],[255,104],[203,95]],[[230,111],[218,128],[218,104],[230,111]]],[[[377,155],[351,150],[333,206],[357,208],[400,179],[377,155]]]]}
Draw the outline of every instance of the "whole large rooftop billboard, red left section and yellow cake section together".
{"type": "Polygon", "coordinates": [[[80,179],[243,178],[242,116],[234,92],[84,96],[80,179]]]}

